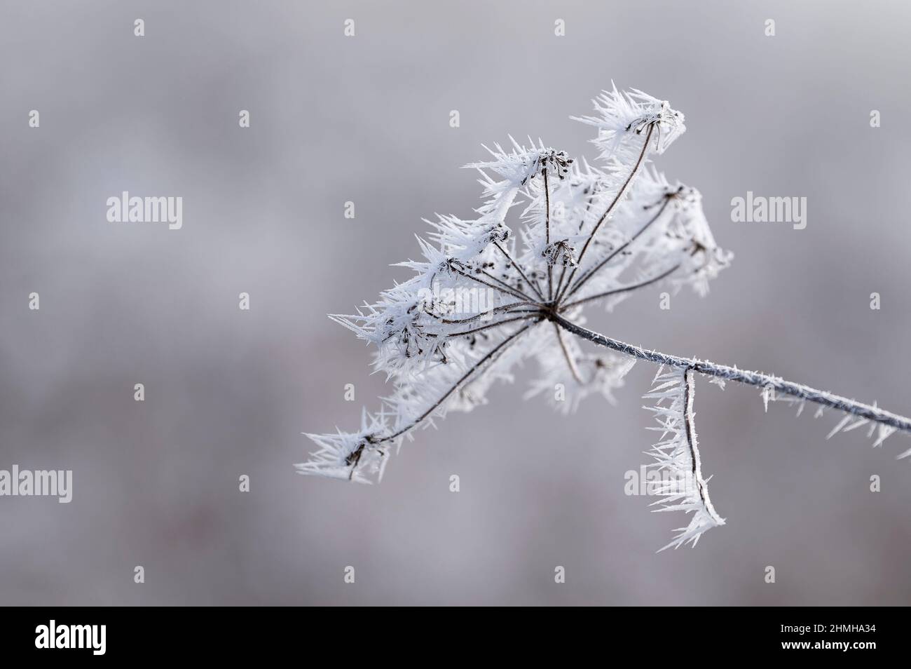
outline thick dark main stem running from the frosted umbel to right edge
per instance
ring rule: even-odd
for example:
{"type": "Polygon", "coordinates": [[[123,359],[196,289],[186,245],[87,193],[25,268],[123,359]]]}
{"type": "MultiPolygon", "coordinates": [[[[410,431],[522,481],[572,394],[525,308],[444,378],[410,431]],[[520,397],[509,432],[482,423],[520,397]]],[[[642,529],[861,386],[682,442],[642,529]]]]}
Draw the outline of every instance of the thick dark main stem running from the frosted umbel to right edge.
{"type": "Polygon", "coordinates": [[[777,393],[794,396],[799,399],[814,402],[815,404],[822,405],[824,407],[839,409],[845,413],[863,417],[867,420],[872,420],[875,423],[880,423],[882,425],[905,430],[906,432],[911,432],[911,418],[898,416],[897,414],[885,411],[879,407],[872,407],[870,405],[861,404],[860,402],[855,402],[853,399],[848,399],[847,397],[827,393],[824,390],[817,390],[816,388],[812,388],[810,386],[796,384],[792,381],[785,381],[780,376],[760,374],[759,372],[737,369],[737,367],[729,367],[727,365],[715,365],[714,363],[710,363],[707,360],[678,357],[677,355],[660,353],[660,351],[647,351],[646,349],[640,348],[639,346],[625,344],[616,339],[606,337],[603,334],[593,332],[592,330],[575,324],[572,321],[568,321],[566,318],[559,314],[550,313],[548,314],[548,317],[561,327],[565,328],[568,332],[576,334],[583,339],[588,339],[589,342],[594,342],[595,344],[601,346],[607,346],[614,351],[619,351],[619,353],[625,355],[631,355],[632,357],[639,358],[640,360],[648,360],[649,362],[656,363],[658,365],[670,365],[672,367],[678,367],[682,369],[691,368],[700,374],[707,376],[717,376],[718,378],[725,379],[726,381],[739,381],[740,383],[747,384],[748,386],[757,386],[761,388],[772,389],[777,393]]]}

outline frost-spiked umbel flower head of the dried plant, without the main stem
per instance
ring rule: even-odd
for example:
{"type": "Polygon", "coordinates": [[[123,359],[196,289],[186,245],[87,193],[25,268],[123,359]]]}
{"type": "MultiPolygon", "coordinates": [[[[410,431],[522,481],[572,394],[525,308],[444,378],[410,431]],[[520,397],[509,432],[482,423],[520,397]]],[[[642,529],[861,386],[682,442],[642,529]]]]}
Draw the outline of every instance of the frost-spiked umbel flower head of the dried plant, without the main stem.
{"type": "Polygon", "coordinates": [[[360,431],[313,436],[321,449],[303,472],[378,477],[383,468],[364,453],[384,459],[415,427],[484,404],[492,382],[511,378],[529,357],[541,370],[533,391],[568,386],[564,410],[592,393],[610,398],[632,361],[583,353],[548,315],[578,320],[586,304],[612,306],[661,280],[701,290],[728,262],[698,193],[646,168],[649,155],[683,131],[682,114],[616,88],[595,107],[598,116],[584,120],[599,129],[600,167],[540,141],[494,145],[489,160],[468,166],[484,189],[476,218],[427,221],[432,230],[418,240],[423,258],[400,263],[414,276],[356,314],[333,315],[376,346],[374,369],[390,377],[393,392],[379,412],[365,413],[360,431]],[[478,287],[494,304],[477,313],[453,314],[434,299],[478,287]]]}

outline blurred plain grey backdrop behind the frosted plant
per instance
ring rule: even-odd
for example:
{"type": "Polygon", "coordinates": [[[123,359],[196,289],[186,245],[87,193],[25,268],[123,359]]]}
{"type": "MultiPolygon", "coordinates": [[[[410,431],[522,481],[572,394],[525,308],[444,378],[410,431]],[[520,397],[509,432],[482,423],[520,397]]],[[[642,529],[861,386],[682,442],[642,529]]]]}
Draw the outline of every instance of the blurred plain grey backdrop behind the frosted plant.
{"type": "Polygon", "coordinates": [[[590,156],[568,115],[611,78],[686,113],[660,167],[701,189],[736,258],[704,300],[660,311],[645,291],[590,324],[911,412],[909,18],[901,2],[4,2],[0,468],[75,483],[69,505],[0,499],[0,602],[908,603],[908,439],[826,441],[834,416],[763,414],[742,386],[696,398],[728,525],[655,554],[683,520],[623,493],[652,437],[641,363],[617,407],[570,418],[523,402],[527,378],[501,386],[378,487],[292,463],[302,431],[357,427],[384,390],[324,314],[404,278],[388,265],[416,255],[421,217],[470,215],[457,168],[481,142],[590,156]],[[108,224],[121,190],[182,196],[183,229],[108,224]],[[732,223],[747,190],[807,197],[807,228],[732,223]]]}

